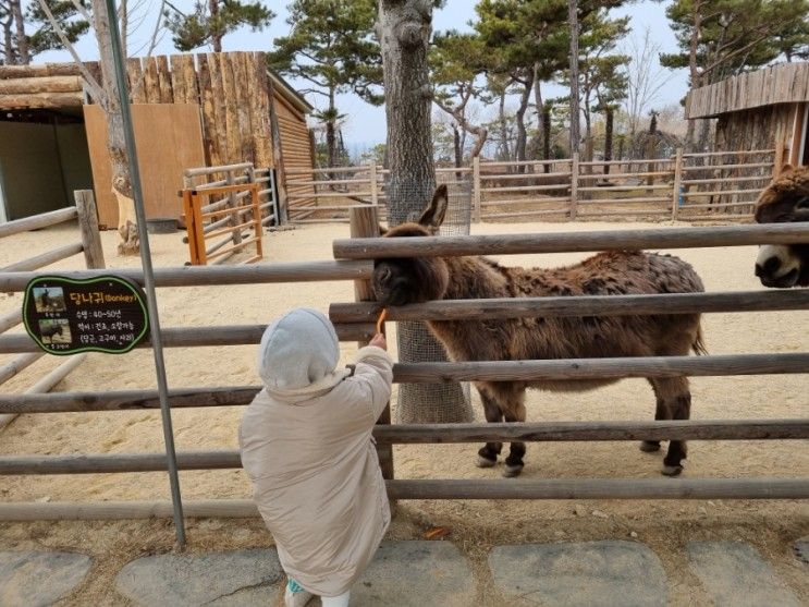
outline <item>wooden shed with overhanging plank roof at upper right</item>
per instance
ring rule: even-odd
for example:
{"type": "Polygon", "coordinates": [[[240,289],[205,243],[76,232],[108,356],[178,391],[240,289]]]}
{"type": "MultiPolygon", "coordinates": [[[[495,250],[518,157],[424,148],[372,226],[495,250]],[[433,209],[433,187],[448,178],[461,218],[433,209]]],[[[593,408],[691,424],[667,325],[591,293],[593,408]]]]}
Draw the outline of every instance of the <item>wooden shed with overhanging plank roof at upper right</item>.
{"type": "Polygon", "coordinates": [[[716,119],[716,151],[774,149],[776,171],[809,165],[809,62],[779,63],[695,88],[686,118],[716,119]]]}

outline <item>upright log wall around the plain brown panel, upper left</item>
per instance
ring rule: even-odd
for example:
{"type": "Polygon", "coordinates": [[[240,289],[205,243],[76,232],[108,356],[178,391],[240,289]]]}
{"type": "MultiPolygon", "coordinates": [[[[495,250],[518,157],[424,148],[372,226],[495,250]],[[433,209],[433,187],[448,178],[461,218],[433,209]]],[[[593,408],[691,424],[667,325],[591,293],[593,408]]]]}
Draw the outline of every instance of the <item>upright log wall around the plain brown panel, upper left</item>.
{"type": "Polygon", "coordinates": [[[209,165],[275,166],[263,53],[135,58],[127,74],[133,104],[199,105],[209,165]]]}

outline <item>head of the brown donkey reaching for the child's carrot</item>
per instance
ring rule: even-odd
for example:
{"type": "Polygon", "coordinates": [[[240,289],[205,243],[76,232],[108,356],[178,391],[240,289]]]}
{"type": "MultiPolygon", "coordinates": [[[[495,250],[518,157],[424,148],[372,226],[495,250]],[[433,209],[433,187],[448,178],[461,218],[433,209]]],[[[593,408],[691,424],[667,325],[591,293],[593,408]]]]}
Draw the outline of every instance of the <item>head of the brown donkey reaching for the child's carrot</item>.
{"type": "MultiPolygon", "coordinates": [[[[431,236],[446,215],[446,185],[436,190],[418,223],[402,223],[384,233],[385,238],[431,236]]],[[[373,292],[383,306],[440,300],[446,291],[449,270],[440,257],[377,259],[373,263],[373,292]]]]}

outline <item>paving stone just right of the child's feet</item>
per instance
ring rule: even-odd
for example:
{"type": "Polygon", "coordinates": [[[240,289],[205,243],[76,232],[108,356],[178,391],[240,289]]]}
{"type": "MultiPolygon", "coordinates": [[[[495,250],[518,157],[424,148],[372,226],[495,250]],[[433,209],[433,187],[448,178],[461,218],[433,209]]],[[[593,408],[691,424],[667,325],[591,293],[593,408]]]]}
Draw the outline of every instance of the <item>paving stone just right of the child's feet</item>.
{"type": "Polygon", "coordinates": [[[352,607],[468,607],[475,581],[449,542],[384,542],[351,591],[352,607]]]}

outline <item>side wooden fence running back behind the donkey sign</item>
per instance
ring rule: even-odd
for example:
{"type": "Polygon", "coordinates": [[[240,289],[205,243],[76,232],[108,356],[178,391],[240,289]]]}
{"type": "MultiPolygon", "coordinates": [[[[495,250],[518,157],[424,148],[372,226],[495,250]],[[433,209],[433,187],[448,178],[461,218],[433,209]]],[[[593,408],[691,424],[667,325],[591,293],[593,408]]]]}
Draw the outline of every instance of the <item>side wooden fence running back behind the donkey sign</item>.
{"type": "MultiPolygon", "coordinates": [[[[0,240],[3,238],[27,232],[29,230],[38,230],[41,228],[49,228],[51,226],[59,226],[68,221],[78,220],[79,241],[74,244],[68,244],[41,253],[34,257],[28,257],[21,262],[16,262],[3,268],[0,268],[0,272],[29,272],[47,266],[50,266],[62,259],[72,257],[79,253],[84,253],[85,263],[88,269],[103,268],[103,250],[101,248],[101,241],[98,233],[98,219],[96,213],[96,203],[93,197],[93,191],[79,190],[75,192],[76,206],[68,207],[41,215],[35,215],[33,217],[26,217],[24,219],[17,219],[15,221],[9,221],[8,223],[0,223],[0,240]]],[[[20,326],[23,323],[22,309],[15,309],[0,316],[0,336],[3,336],[7,331],[20,326]]],[[[27,336],[26,336],[27,337],[27,336]]],[[[0,386],[5,384],[9,379],[15,375],[22,373],[25,368],[37,362],[45,355],[45,352],[38,348],[30,350],[25,353],[19,353],[10,362],[0,365],[0,386]]],[[[40,377],[33,386],[30,386],[25,394],[39,394],[49,392],[57,384],[64,379],[73,369],[75,369],[82,361],[86,357],[86,354],[79,354],[60,364],[50,373],[40,377]]],[[[10,424],[16,413],[0,411],[0,432],[10,424]]]]}

